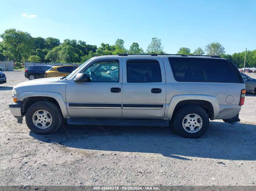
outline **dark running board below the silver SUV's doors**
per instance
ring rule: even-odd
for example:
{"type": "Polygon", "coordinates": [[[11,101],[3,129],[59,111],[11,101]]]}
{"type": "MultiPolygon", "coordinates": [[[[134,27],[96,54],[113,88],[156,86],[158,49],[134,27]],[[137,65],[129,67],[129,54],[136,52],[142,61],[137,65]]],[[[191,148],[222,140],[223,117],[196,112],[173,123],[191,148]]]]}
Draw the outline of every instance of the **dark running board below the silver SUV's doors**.
{"type": "Polygon", "coordinates": [[[169,126],[169,120],[163,119],[112,119],[71,117],[67,119],[69,125],[113,125],[113,126],[169,126]]]}

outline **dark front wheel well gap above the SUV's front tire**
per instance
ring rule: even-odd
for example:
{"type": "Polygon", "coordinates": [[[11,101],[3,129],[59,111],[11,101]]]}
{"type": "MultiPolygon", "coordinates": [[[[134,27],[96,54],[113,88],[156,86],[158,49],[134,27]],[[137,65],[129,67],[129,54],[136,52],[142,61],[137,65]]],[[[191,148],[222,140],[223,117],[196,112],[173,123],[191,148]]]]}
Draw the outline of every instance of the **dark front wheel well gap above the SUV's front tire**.
{"type": "Polygon", "coordinates": [[[60,110],[60,106],[57,100],[52,97],[44,97],[44,96],[35,96],[35,97],[28,97],[22,101],[22,114],[25,114],[30,106],[38,101],[49,101],[54,103],[60,110]]]}

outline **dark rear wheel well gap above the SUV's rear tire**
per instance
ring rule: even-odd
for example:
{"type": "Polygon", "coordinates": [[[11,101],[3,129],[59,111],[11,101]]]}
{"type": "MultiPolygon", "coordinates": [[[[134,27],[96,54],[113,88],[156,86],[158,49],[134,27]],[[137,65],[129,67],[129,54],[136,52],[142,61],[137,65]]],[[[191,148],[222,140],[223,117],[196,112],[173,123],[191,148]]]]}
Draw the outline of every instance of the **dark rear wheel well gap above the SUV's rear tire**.
{"type": "Polygon", "coordinates": [[[186,106],[186,105],[196,105],[198,107],[201,107],[208,114],[210,119],[213,118],[214,111],[213,111],[212,104],[209,101],[205,101],[205,100],[183,100],[183,101],[180,101],[175,106],[173,113],[175,113],[178,109],[180,109],[181,107],[186,106]]]}

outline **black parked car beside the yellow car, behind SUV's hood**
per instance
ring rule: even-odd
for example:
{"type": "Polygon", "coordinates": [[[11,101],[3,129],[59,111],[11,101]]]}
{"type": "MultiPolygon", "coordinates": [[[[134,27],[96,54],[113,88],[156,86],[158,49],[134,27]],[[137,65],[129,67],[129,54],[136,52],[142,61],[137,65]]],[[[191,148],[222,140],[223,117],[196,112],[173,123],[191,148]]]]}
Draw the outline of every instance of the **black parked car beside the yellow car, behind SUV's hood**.
{"type": "Polygon", "coordinates": [[[51,69],[50,65],[30,65],[25,69],[25,78],[34,80],[37,78],[44,78],[45,71],[51,69]]]}

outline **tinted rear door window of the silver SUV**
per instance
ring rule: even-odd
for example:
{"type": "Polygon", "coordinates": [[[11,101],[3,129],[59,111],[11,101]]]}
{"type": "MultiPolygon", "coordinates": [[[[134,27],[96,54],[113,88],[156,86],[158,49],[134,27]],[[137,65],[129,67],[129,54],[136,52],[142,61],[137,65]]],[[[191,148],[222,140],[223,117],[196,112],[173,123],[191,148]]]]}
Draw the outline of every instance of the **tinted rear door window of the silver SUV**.
{"type": "Polygon", "coordinates": [[[157,60],[127,60],[127,82],[161,82],[161,68],[157,60]]]}

